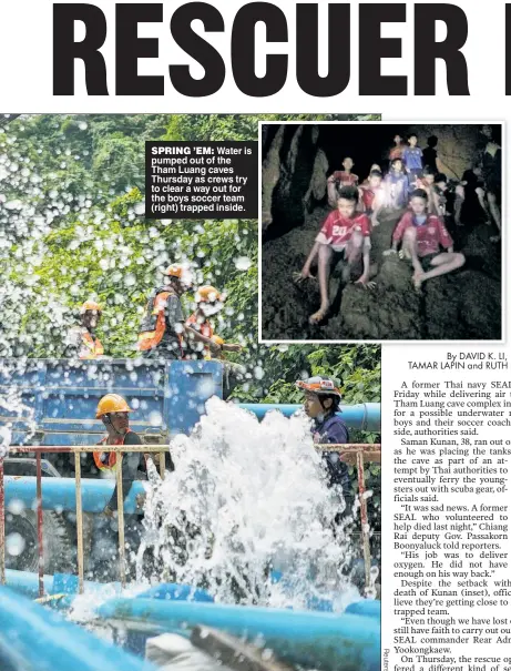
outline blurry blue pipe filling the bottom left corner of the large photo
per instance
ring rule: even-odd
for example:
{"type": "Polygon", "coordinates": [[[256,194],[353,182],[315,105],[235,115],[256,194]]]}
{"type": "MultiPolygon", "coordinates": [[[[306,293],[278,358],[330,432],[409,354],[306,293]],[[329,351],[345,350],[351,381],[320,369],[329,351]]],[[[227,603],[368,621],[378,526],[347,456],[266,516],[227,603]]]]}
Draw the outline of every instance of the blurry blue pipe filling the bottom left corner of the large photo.
{"type": "Polygon", "coordinates": [[[0,587],[0,669],[156,671],[7,587],[0,587]]]}

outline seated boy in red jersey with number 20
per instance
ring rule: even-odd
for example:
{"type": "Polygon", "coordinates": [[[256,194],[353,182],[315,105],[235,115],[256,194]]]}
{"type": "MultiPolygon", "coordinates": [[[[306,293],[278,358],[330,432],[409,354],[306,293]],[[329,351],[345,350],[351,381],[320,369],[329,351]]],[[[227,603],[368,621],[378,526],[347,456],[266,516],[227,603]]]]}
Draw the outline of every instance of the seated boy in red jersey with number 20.
{"type": "Polygon", "coordinates": [[[330,270],[340,260],[345,261],[343,267],[343,282],[347,284],[351,270],[362,260],[362,274],[357,279],[366,288],[372,288],[369,282],[369,253],[371,224],[367,214],[357,212],[358,190],[356,186],[343,186],[337,199],[337,209],[326,217],[321,231],[310,250],[302,273],[295,275],[296,282],[314,278],[310,267],[318,257],[318,279],[321,304],[319,309],[309,317],[310,324],[319,324],[327,316],[330,302],[328,297],[328,282],[330,270]]]}

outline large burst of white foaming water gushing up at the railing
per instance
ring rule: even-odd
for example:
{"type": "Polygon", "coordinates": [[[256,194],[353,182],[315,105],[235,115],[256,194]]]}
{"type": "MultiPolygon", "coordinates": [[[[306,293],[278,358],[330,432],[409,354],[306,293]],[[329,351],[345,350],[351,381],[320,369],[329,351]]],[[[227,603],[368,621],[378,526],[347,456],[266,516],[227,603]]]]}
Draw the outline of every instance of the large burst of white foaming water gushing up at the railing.
{"type": "Polygon", "coordinates": [[[333,523],[345,502],[326,486],[305,416],[273,411],[259,424],[214,397],[171,453],[175,471],[163,482],[150,474],[137,581],[150,548],[155,580],[205,588],[224,603],[329,599],[343,610],[359,598],[344,575],[352,543],[333,523]]]}

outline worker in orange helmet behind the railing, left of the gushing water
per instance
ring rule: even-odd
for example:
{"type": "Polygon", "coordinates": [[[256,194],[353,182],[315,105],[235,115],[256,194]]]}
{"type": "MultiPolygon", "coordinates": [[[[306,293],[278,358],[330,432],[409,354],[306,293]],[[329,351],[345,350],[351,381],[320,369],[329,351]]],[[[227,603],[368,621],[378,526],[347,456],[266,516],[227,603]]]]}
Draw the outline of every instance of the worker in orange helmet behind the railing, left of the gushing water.
{"type": "MultiPolygon", "coordinates": [[[[98,445],[142,445],[137,434],[130,429],[129,413],[133,410],[119,394],[106,394],[98,404],[96,419],[101,419],[106,428],[106,436],[98,445]]],[[[116,468],[116,453],[98,450],[93,453],[95,466],[103,472],[114,472],[116,468]]],[[[143,453],[125,453],[122,459],[122,490],[124,498],[130,492],[134,480],[147,479],[146,459],[143,453]]],[[[117,510],[117,486],[104,508],[104,514],[112,517],[117,510]]]]}

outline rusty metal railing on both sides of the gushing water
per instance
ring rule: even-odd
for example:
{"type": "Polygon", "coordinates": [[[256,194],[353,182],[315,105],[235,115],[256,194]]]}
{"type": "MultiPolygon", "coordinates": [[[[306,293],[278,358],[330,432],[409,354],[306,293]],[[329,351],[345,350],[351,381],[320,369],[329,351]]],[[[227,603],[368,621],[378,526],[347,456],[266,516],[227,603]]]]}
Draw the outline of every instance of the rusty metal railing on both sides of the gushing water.
{"type": "MultiPolygon", "coordinates": [[[[315,445],[318,451],[336,451],[341,455],[344,461],[357,466],[358,475],[358,497],[360,502],[360,526],[364,550],[366,587],[370,584],[371,555],[369,545],[369,525],[367,517],[367,497],[366,479],[364,474],[364,464],[366,461],[381,461],[381,446],[379,444],[347,444],[347,445],[315,445]]],[[[38,526],[38,553],[39,553],[39,596],[44,597],[44,557],[43,557],[43,507],[42,507],[42,454],[74,454],[74,480],[76,498],[76,559],[78,559],[78,579],[79,593],[83,593],[83,510],[82,510],[82,475],[81,475],[81,454],[102,451],[115,453],[115,480],[117,486],[117,529],[119,529],[119,575],[122,587],[126,583],[126,563],[125,563],[125,541],[124,541],[124,492],[122,484],[122,458],[123,453],[159,454],[160,475],[162,479],[165,476],[165,454],[168,451],[168,445],[123,445],[123,446],[23,446],[11,447],[9,454],[30,453],[35,454],[37,476],[35,476],[35,502],[37,502],[37,526],[38,526]],[[108,449],[106,449],[108,448],[108,449]]],[[[3,458],[0,458],[0,582],[6,583],[6,490],[3,478],[3,458]]]]}

